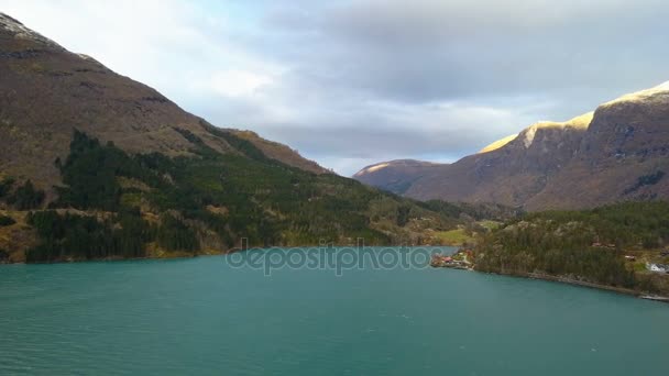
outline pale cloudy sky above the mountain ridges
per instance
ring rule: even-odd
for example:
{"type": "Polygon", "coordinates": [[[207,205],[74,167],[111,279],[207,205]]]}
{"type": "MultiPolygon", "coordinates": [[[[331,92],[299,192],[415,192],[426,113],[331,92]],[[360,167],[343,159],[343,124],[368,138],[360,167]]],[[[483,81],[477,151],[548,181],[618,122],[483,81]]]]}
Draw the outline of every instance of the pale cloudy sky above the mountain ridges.
{"type": "Polygon", "coordinates": [[[663,0],[0,0],[0,11],[342,175],[452,162],[669,80],[663,0]]]}

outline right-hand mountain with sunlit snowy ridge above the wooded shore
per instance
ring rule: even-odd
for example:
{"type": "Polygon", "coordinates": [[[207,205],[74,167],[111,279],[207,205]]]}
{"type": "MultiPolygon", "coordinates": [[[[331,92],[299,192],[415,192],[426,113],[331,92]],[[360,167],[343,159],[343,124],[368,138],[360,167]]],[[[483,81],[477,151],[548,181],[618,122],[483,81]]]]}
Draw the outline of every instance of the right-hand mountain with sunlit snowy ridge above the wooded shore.
{"type": "MultiPolygon", "coordinates": [[[[591,208],[669,198],[668,156],[669,84],[663,84],[567,122],[533,124],[453,164],[405,169],[403,179],[392,183],[420,200],[530,211],[591,208]]],[[[377,172],[364,175],[377,187],[388,183],[377,172]]]]}

